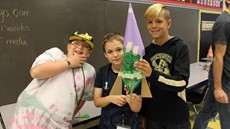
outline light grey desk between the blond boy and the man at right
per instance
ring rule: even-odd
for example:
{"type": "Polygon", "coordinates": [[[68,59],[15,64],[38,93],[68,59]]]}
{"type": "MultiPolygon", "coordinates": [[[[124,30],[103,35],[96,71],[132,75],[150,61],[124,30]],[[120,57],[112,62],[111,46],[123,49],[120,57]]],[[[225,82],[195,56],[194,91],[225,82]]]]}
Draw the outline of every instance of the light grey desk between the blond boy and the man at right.
{"type": "Polygon", "coordinates": [[[207,84],[208,70],[203,70],[205,62],[190,64],[190,77],[187,90],[194,90],[207,84]]]}

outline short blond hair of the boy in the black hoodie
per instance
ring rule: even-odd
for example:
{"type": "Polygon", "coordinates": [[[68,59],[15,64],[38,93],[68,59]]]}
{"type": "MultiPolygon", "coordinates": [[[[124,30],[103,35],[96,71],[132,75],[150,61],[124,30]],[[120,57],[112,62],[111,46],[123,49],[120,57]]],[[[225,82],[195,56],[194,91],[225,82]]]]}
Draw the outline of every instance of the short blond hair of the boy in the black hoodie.
{"type": "Polygon", "coordinates": [[[144,17],[146,21],[151,21],[160,15],[164,16],[165,20],[171,19],[169,10],[163,4],[153,4],[145,11],[144,17]]]}

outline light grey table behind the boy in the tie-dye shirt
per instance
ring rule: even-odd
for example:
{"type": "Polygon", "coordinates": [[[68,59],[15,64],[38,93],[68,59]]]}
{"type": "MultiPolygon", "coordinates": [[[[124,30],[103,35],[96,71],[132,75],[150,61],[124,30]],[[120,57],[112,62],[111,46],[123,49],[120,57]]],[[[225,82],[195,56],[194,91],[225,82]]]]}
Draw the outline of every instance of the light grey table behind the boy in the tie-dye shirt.
{"type": "MultiPolygon", "coordinates": [[[[0,107],[0,112],[1,112],[4,124],[6,126],[6,129],[8,129],[9,124],[12,120],[13,115],[14,115],[15,106],[16,106],[16,103],[8,104],[8,105],[4,105],[4,106],[0,107]]],[[[73,120],[73,123],[72,123],[73,126],[79,125],[83,122],[85,123],[85,122],[90,121],[94,118],[98,118],[101,115],[101,108],[96,108],[94,106],[93,101],[86,101],[84,106],[80,110],[80,116],[85,115],[85,114],[88,114],[89,117],[88,118],[76,118],[75,117],[73,120]]],[[[79,113],[76,116],[78,116],[78,115],[79,115],[79,113]]],[[[1,124],[0,124],[0,129],[3,129],[1,124]]]]}

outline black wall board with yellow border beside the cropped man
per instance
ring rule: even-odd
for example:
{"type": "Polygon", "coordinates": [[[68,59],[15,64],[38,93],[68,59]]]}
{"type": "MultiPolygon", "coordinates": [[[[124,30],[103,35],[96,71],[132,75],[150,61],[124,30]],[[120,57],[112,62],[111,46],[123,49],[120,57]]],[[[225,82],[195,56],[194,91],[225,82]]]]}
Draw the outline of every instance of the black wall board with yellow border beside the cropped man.
{"type": "Polygon", "coordinates": [[[199,11],[198,53],[197,61],[205,61],[212,43],[212,27],[221,12],[199,11]]]}

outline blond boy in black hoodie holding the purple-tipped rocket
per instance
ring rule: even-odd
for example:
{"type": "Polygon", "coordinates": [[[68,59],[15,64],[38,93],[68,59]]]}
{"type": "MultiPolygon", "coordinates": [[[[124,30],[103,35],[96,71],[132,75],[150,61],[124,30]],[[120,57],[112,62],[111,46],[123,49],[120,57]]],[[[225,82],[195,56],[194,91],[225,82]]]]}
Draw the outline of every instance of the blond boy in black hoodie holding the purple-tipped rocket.
{"type": "Polygon", "coordinates": [[[189,79],[189,50],[182,39],[169,35],[170,11],[162,4],[150,6],[144,14],[153,40],[145,56],[135,63],[148,77],[151,99],[143,99],[144,129],[190,129],[185,89],[189,79]]]}

